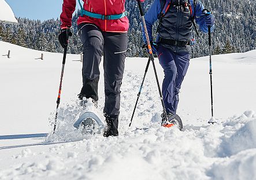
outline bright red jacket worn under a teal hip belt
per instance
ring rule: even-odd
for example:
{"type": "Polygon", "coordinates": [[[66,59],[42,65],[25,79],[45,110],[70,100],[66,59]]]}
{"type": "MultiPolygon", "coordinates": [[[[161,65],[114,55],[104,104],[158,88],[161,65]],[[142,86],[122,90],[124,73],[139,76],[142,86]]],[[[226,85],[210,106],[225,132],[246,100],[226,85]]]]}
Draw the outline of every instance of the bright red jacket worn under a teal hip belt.
{"type": "MultiPolygon", "coordinates": [[[[125,12],[125,0],[83,0],[84,9],[92,13],[102,15],[121,14],[125,12]]],[[[76,0],[64,0],[61,13],[61,29],[71,26],[72,14],[76,9],[76,0]]],[[[97,25],[105,32],[127,32],[129,28],[129,20],[123,17],[119,20],[101,20],[88,16],[79,17],[77,24],[88,22],[97,25]]]]}

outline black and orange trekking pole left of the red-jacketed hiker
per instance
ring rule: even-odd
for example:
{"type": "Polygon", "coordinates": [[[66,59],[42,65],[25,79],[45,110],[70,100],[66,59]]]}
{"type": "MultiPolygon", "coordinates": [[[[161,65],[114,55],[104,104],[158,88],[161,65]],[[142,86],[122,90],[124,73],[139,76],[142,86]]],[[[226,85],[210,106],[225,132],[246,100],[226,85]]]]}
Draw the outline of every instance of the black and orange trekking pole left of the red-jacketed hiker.
{"type": "MultiPolygon", "coordinates": [[[[66,38],[68,40],[68,29],[66,30],[66,38]]],[[[65,67],[65,62],[66,62],[66,50],[68,49],[68,45],[64,48],[64,54],[63,54],[63,60],[62,60],[62,70],[61,70],[61,81],[60,81],[60,87],[58,91],[58,98],[57,98],[57,108],[56,108],[56,114],[55,114],[55,122],[54,122],[54,128],[53,128],[53,133],[55,133],[56,125],[57,125],[57,118],[58,118],[58,107],[61,102],[61,87],[62,87],[62,78],[64,74],[64,67],[65,67]]]]}

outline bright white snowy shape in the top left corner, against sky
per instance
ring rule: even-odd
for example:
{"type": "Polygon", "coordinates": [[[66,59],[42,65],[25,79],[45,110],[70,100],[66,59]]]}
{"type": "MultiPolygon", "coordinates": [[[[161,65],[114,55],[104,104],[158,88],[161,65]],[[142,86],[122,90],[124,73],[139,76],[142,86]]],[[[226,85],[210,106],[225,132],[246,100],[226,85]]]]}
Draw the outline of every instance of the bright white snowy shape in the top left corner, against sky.
{"type": "Polygon", "coordinates": [[[0,0],[0,22],[1,21],[4,23],[18,23],[14,17],[13,10],[5,0],[0,0]]]}

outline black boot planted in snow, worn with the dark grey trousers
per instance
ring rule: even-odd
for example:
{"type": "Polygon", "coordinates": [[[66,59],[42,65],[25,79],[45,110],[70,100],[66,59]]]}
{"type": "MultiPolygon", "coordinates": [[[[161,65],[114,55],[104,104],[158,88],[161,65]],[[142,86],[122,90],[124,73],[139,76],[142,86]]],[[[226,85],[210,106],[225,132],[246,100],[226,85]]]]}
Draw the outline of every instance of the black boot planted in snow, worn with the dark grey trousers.
{"type": "Polygon", "coordinates": [[[118,116],[106,117],[106,127],[103,130],[103,136],[118,136],[118,116]]]}

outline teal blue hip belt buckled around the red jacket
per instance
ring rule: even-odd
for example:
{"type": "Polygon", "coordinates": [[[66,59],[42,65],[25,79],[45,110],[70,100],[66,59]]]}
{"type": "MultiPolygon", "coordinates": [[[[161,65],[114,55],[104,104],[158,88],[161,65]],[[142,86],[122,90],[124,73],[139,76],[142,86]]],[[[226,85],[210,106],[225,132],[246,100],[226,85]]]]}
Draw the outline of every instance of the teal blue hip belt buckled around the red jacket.
{"type": "Polygon", "coordinates": [[[80,16],[88,16],[88,17],[93,17],[93,18],[97,18],[100,20],[119,20],[119,19],[127,16],[127,14],[128,14],[127,11],[125,11],[121,14],[113,14],[113,15],[102,15],[102,14],[97,14],[97,13],[91,13],[91,12],[88,12],[87,10],[83,9],[83,6],[81,5],[80,0],[78,2],[81,7],[80,16]]]}

